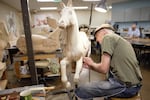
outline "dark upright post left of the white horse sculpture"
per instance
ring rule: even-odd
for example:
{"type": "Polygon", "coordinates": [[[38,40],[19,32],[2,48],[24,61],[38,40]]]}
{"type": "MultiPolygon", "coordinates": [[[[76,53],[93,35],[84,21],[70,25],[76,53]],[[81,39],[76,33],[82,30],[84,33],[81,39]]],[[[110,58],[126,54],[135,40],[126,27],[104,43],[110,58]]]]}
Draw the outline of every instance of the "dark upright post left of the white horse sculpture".
{"type": "Polygon", "coordinates": [[[29,64],[29,69],[31,74],[31,81],[32,84],[38,84],[37,69],[35,68],[35,63],[34,63],[34,54],[33,54],[32,38],[31,38],[28,0],[21,0],[21,8],[22,8],[22,17],[23,17],[23,25],[24,25],[24,33],[26,39],[28,64],[29,64]]]}

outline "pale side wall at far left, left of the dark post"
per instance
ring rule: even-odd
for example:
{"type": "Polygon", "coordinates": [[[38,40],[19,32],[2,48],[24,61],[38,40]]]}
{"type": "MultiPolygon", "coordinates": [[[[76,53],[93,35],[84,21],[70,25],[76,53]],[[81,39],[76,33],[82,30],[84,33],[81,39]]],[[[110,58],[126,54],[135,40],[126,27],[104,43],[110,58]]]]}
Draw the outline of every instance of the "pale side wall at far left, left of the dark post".
{"type": "MultiPolygon", "coordinates": [[[[9,7],[8,5],[0,2],[0,21],[4,22],[4,24],[6,25],[6,29],[9,34],[9,40],[11,42],[11,45],[13,45],[15,40],[19,36],[19,34],[22,33],[22,28],[21,28],[22,21],[21,21],[19,12],[16,9],[9,7]],[[9,24],[8,24],[8,17],[10,17],[11,14],[14,15],[14,17],[13,17],[13,21],[15,23],[14,32],[12,32],[12,30],[10,29],[9,24]]],[[[3,34],[6,34],[6,33],[3,33],[3,34]]]]}

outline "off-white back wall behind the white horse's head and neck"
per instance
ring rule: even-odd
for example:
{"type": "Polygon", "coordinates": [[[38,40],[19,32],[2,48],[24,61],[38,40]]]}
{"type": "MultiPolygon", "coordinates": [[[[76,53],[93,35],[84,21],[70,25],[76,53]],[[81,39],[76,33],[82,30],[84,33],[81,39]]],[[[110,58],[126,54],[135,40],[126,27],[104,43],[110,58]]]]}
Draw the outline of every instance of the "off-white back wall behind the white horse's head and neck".
{"type": "MultiPolygon", "coordinates": [[[[79,25],[81,24],[89,25],[89,19],[90,19],[89,10],[76,10],[76,14],[77,14],[79,25]]],[[[34,16],[36,15],[45,15],[45,16],[50,15],[56,20],[59,20],[60,18],[59,11],[37,12],[35,14],[32,14],[33,20],[34,20],[34,16]]],[[[99,26],[110,20],[111,20],[111,11],[108,11],[107,13],[100,13],[100,12],[93,10],[91,26],[99,26]]]]}

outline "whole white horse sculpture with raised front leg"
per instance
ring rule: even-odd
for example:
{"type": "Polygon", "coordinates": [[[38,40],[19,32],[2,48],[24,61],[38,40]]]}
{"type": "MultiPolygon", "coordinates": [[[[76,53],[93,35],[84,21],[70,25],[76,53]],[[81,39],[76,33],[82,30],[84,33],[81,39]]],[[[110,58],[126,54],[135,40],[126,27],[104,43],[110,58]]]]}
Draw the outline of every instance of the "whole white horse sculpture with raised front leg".
{"type": "Polygon", "coordinates": [[[59,28],[65,30],[63,33],[64,41],[64,58],[61,60],[61,80],[66,88],[71,84],[67,79],[66,66],[70,62],[76,62],[74,82],[78,83],[79,74],[82,70],[83,57],[90,55],[91,43],[84,32],[79,32],[78,20],[72,7],[72,0],[68,1],[67,6],[61,2],[61,18],[58,22],[59,28]]]}

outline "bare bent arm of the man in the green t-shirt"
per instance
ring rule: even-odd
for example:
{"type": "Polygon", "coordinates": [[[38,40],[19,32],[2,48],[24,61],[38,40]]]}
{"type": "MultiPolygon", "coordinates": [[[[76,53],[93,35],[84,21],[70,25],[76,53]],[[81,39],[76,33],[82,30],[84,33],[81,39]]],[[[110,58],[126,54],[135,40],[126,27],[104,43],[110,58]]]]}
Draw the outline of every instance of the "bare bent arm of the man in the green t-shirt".
{"type": "Polygon", "coordinates": [[[103,74],[106,74],[109,71],[110,60],[111,56],[107,53],[103,53],[100,63],[95,63],[91,58],[88,57],[85,57],[83,59],[84,63],[88,66],[88,68],[103,74]]]}

